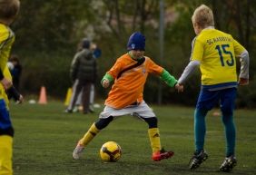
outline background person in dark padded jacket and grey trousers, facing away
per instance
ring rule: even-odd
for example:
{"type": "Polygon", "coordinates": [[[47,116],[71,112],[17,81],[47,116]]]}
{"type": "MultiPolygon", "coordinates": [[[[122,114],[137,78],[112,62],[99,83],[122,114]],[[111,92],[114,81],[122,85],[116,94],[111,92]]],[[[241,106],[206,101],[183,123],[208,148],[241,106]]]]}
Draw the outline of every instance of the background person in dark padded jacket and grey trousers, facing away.
{"type": "Polygon", "coordinates": [[[73,94],[71,101],[65,110],[65,112],[73,112],[75,102],[78,98],[78,95],[81,91],[82,94],[82,104],[83,112],[89,113],[89,104],[90,104],[90,90],[92,84],[96,80],[97,76],[97,63],[94,59],[94,54],[91,49],[91,41],[87,38],[82,40],[82,49],[79,49],[74,55],[74,59],[71,63],[70,75],[73,84],[73,94]]]}

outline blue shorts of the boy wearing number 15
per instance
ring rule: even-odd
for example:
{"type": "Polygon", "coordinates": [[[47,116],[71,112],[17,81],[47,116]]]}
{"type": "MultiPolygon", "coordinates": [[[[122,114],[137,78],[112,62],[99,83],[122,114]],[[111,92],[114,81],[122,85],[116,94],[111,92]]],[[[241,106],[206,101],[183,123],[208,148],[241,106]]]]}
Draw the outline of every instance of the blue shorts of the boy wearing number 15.
{"type": "Polygon", "coordinates": [[[232,112],[234,109],[236,92],[236,88],[228,88],[216,91],[202,88],[198,97],[196,109],[210,111],[220,102],[222,112],[232,112]]]}

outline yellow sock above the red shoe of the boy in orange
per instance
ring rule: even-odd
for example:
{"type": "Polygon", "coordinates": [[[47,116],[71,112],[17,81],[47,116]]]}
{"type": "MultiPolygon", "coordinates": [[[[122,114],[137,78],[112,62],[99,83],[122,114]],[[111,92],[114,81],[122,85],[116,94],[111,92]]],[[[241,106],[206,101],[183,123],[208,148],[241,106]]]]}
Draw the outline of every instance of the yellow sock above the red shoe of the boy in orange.
{"type": "Polygon", "coordinates": [[[151,142],[152,151],[160,151],[161,150],[161,142],[160,142],[160,133],[158,128],[150,128],[148,130],[149,138],[151,142]]]}

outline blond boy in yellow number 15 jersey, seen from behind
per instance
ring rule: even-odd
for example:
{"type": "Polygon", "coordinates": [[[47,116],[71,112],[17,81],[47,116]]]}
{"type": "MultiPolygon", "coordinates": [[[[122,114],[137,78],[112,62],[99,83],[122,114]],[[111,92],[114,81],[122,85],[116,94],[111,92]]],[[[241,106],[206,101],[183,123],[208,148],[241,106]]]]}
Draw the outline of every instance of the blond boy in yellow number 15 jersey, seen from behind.
{"type": "Polygon", "coordinates": [[[197,36],[192,41],[191,61],[182,73],[179,83],[183,84],[194,69],[200,67],[202,88],[194,112],[195,153],[190,169],[197,169],[207,160],[204,151],[206,133],[205,116],[216,103],[221,103],[222,122],[224,124],[227,150],[220,170],[231,171],[236,165],[235,125],[233,122],[234,102],[237,85],[249,83],[249,53],[232,38],[214,28],[212,10],[201,5],[192,15],[192,24],[197,36]],[[236,73],[236,58],[241,61],[239,80],[236,73]]]}

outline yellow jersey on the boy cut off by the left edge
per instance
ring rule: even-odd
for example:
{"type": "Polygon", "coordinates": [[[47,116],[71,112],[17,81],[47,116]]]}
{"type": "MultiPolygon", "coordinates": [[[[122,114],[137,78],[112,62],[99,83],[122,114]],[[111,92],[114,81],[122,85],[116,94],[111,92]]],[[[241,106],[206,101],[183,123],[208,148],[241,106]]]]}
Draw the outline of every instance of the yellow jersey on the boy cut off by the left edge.
{"type": "MultiPolygon", "coordinates": [[[[7,67],[7,62],[14,42],[14,32],[7,25],[0,23],[0,69],[5,78],[10,80],[12,80],[12,75],[7,67]]],[[[0,99],[3,98],[7,101],[4,86],[0,83],[0,99]]]]}

